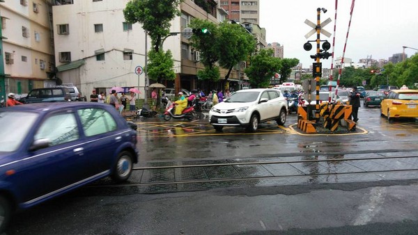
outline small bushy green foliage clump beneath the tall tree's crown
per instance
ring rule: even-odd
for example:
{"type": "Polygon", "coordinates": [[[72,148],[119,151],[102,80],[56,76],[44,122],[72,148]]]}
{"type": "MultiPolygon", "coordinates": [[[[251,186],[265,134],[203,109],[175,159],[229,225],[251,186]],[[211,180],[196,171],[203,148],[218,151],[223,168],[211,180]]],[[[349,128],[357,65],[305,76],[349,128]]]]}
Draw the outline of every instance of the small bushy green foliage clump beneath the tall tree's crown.
{"type": "Polygon", "coordinates": [[[150,62],[148,63],[148,76],[150,79],[161,83],[164,80],[176,79],[176,73],[173,71],[174,62],[171,51],[150,51],[148,53],[150,62]]]}

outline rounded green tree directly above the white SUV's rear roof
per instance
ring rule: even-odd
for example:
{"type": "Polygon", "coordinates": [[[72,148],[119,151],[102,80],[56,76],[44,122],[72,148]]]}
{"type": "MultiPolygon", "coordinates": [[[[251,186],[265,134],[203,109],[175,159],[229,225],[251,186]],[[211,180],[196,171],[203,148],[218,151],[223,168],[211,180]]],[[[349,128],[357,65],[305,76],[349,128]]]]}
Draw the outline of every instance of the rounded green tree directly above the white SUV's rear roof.
{"type": "Polygon", "coordinates": [[[274,73],[280,71],[280,58],[273,54],[272,49],[261,49],[258,54],[251,56],[251,65],[244,71],[249,77],[251,87],[267,88],[274,73]]]}

